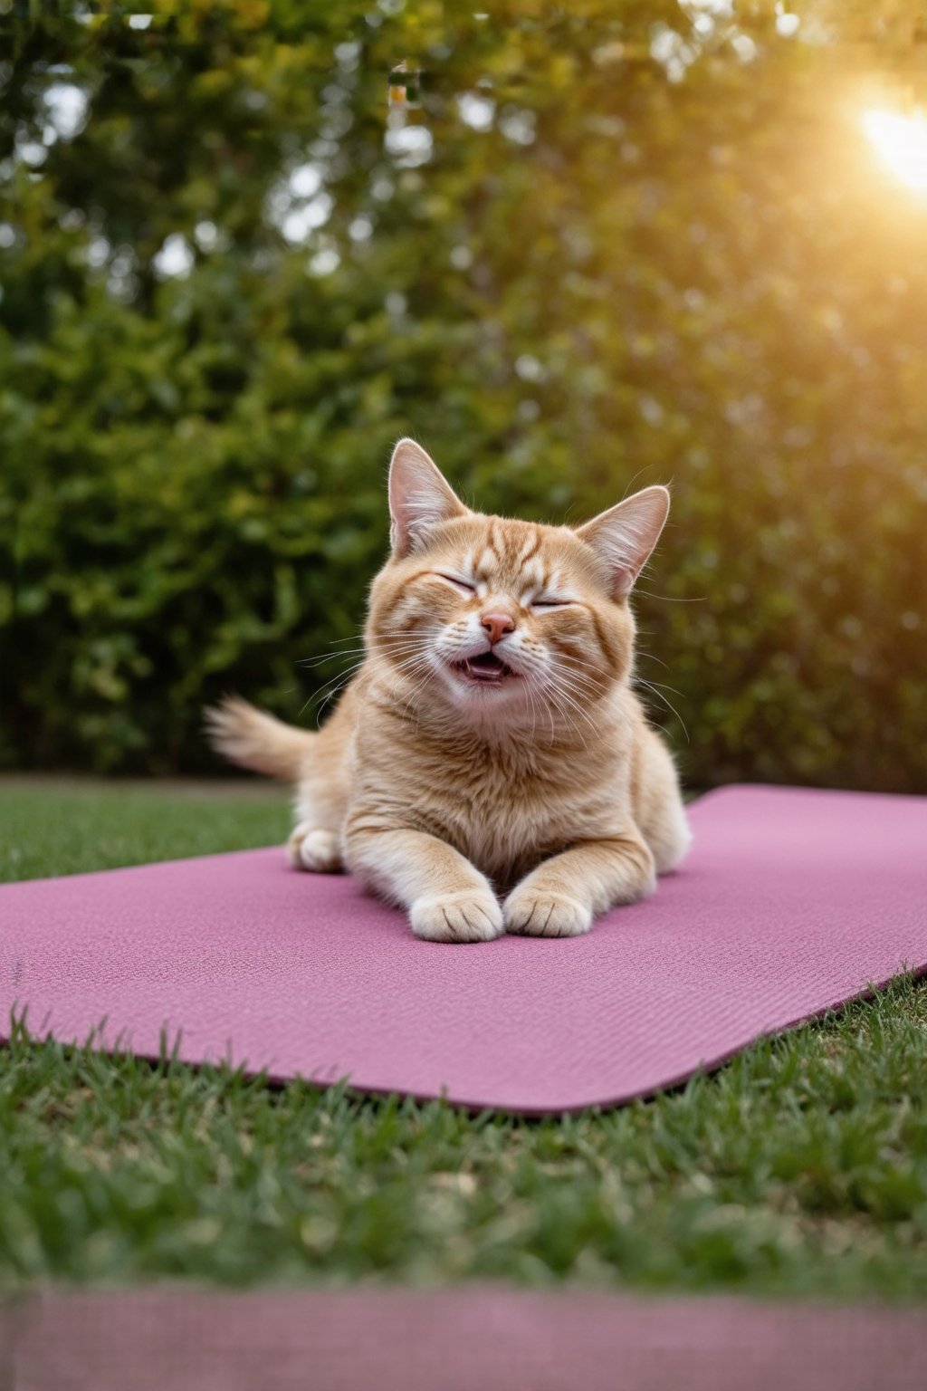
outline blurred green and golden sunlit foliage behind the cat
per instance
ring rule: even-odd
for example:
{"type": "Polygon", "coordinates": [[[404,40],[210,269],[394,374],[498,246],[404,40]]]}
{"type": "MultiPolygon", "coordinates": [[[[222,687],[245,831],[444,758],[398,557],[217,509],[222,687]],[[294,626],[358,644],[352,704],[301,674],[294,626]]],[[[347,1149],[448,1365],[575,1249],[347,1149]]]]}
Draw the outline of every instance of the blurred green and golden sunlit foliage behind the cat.
{"type": "Polygon", "coordinates": [[[691,787],[927,791],[923,4],[0,38],[3,766],[218,771],[227,690],[314,723],[413,434],[485,510],[671,484],[639,673],[691,787]]]}

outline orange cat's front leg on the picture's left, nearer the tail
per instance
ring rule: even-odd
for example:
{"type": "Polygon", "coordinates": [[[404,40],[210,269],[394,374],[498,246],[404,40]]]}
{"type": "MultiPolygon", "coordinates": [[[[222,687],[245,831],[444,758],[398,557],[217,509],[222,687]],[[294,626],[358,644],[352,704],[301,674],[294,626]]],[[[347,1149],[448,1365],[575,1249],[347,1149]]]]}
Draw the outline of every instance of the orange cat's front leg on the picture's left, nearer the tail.
{"type": "Polygon", "coordinates": [[[453,846],[423,830],[349,818],[345,860],[381,897],[409,912],[427,942],[492,942],[502,908],[485,875],[453,846]]]}

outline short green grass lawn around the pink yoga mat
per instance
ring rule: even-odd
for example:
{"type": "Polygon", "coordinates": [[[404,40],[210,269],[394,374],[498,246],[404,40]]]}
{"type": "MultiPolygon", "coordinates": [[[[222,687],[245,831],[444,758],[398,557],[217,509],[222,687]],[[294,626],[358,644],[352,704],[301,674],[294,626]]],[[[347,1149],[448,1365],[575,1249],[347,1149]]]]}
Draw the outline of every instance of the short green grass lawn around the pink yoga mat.
{"type": "MultiPolygon", "coordinates": [[[[279,797],[3,789],[7,878],[279,839],[279,797]]],[[[0,1050],[0,1283],[506,1278],[927,1295],[927,988],[553,1121],[0,1050]]]]}

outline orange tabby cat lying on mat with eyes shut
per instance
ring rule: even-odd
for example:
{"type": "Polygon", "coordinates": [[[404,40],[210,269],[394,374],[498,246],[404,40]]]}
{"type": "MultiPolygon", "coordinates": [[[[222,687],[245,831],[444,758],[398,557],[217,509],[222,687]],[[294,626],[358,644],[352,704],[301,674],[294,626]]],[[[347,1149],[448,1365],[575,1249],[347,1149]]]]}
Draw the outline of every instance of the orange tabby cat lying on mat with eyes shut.
{"type": "Polygon", "coordinates": [[[218,751],[296,785],[292,864],[350,871],[429,942],[575,936],[652,893],[689,829],[631,687],[628,595],[668,506],[649,487],[578,527],[482,516],[400,440],[392,554],[331,718],[207,712],[218,751]]]}

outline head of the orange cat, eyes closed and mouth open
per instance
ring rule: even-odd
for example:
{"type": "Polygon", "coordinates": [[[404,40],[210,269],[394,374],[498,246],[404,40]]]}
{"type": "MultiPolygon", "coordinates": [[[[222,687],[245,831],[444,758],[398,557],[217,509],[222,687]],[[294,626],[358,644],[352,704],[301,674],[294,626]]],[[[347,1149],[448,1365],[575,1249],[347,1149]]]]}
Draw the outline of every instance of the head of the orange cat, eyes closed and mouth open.
{"type": "Polygon", "coordinates": [[[580,527],[482,516],[400,440],[368,652],[414,708],[539,734],[548,722],[577,727],[631,670],[627,598],[668,509],[667,490],[650,487],[580,527]]]}

